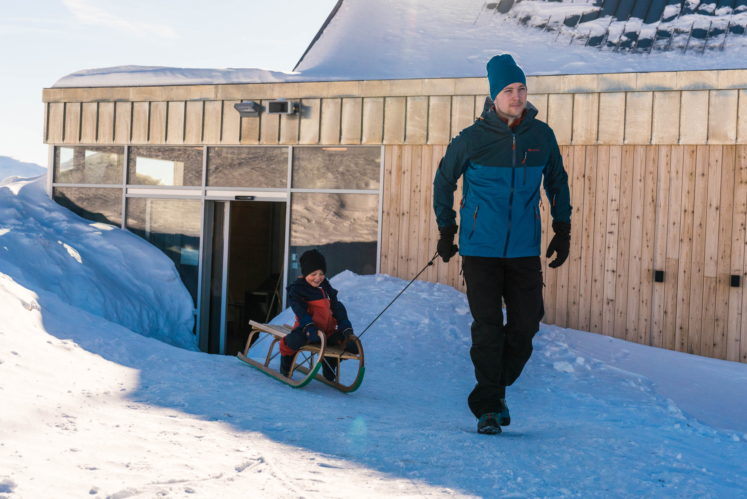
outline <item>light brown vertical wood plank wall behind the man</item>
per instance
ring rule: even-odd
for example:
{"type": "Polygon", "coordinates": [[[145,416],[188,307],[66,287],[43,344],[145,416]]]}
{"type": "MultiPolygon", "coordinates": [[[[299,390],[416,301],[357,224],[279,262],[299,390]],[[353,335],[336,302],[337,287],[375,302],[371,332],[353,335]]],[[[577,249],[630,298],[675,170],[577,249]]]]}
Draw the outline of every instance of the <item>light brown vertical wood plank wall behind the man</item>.
{"type": "MultiPolygon", "coordinates": [[[[382,272],[412,279],[436,251],[444,145],[385,146],[382,272]]],[[[545,319],[645,345],[747,362],[747,146],[565,145],[571,254],[545,274],[545,319]],[[655,282],[654,273],[664,272],[655,282]]],[[[454,208],[461,186],[454,195],[454,208]]],[[[542,248],[552,234],[542,194],[542,248]]],[[[465,291],[461,257],[421,280],[465,291]]]]}

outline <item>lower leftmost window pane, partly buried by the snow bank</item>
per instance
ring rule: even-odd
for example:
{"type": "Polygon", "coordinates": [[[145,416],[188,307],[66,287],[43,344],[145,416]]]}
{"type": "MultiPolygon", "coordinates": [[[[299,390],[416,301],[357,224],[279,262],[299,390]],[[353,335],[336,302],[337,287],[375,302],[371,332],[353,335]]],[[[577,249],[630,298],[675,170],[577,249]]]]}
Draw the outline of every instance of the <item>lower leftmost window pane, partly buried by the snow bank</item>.
{"type": "Polygon", "coordinates": [[[121,187],[55,187],[52,198],[87,220],[117,226],[122,224],[121,187]]]}

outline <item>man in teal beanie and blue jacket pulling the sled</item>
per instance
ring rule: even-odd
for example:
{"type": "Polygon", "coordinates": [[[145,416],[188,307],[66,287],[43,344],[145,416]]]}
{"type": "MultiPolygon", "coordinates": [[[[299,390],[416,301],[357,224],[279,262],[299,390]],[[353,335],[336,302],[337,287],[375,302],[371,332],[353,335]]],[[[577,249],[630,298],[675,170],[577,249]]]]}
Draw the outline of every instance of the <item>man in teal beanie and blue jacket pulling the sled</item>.
{"type": "Polygon", "coordinates": [[[542,304],[542,226],[539,186],[545,177],[555,236],[547,257],[557,268],[568,257],[571,203],[568,175],[552,129],[527,102],[524,71],[508,54],[487,65],[490,98],[483,114],[447,147],[433,180],[433,208],[448,262],[459,251],[472,322],[470,356],[477,385],[468,404],[477,431],[500,433],[511,422],[506,386],[532,355],[532,338],[545,315],[542,304]],[[459,213],[452,209],[456,182],[464,176],[459,213]],[[501,298],[506,303],[503,325],[501,298]]]}

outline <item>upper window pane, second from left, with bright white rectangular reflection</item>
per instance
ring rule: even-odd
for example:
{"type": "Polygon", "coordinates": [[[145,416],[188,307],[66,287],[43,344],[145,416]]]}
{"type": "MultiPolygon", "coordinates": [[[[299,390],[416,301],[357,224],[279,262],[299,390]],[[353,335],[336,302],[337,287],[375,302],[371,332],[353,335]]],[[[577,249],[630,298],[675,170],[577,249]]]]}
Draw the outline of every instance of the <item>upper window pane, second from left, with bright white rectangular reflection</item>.
{"type": "Polygon", "coordinates": [[[202,147],[130,147],[128,183],[202,186],[202,147]]]}

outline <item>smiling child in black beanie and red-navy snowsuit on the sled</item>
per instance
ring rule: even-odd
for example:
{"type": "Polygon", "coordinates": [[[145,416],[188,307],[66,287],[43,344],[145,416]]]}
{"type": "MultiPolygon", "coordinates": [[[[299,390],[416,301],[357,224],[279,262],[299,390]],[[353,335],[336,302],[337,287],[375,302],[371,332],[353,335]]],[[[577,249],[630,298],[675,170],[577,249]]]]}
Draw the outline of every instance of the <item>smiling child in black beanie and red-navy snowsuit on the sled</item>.
{"type": "MultiPolygon", "coordinates": [[[[304,252],[299,260],[301,276],[288,286],[288,300],[296,314],[293,331],[280,340],[280,374],[288,376],[293,356],[307,342],[320,342],[323,333],[327,345],[340,345],[350,334],[353,325],[347,319],[345,306],[337,299],[337,290],[329,284],[326,274],[326,260],[313,249],[304,252]]],[[[358,346],[350,342],[347,352],[358,354],[358,346]]],[[[330,382],[335,381],[337,358],[325,357],[322,362],[322,375],[330,382]],[[333,364],[334,363],[334,364],[333,364]]]]}

